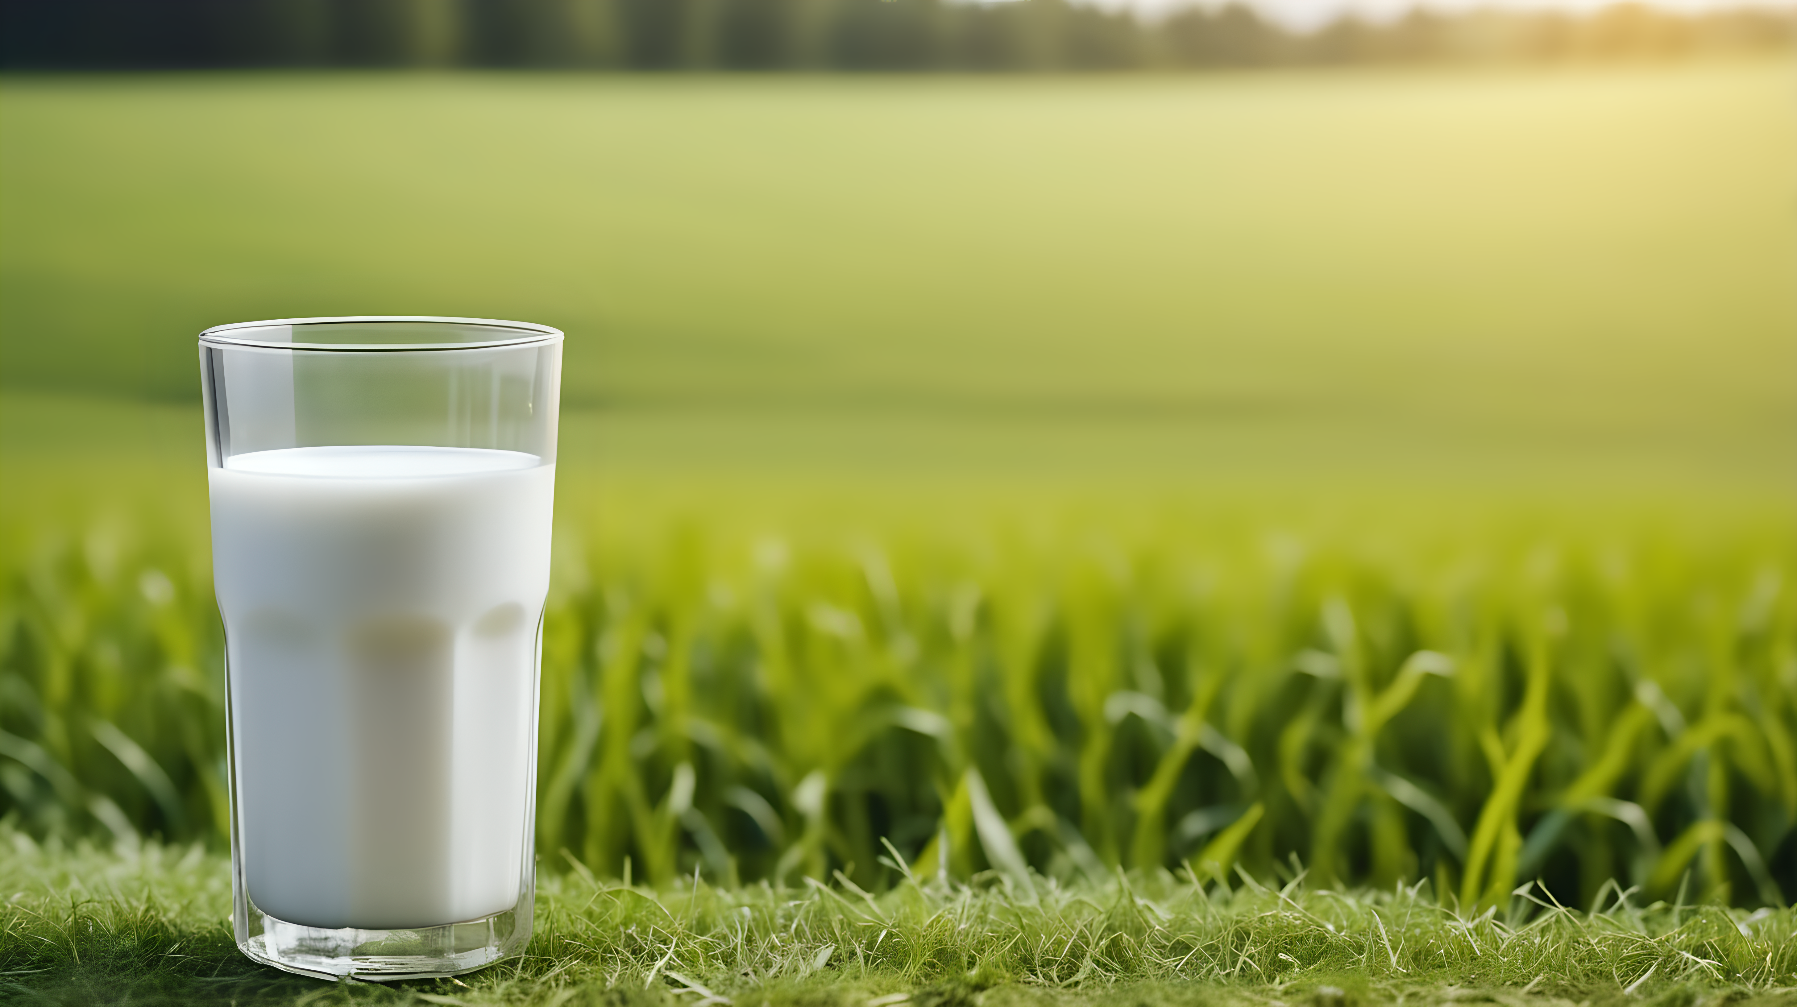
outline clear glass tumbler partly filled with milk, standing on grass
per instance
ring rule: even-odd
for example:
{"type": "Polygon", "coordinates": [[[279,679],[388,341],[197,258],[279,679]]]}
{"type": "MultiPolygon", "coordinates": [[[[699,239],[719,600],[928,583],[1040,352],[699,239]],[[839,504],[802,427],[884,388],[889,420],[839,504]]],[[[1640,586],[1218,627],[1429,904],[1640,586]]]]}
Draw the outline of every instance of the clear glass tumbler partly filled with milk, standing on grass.
{"type": "Polygon", "coordinates": [[[442,976],[530,939],[561,349],[483,318],[199,334],[252,958],[442,976]]]}

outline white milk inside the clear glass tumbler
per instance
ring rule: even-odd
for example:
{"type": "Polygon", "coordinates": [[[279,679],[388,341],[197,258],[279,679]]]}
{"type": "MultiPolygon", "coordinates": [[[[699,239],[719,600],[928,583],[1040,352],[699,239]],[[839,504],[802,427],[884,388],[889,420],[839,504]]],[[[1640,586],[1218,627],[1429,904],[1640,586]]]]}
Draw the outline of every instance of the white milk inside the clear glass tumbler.
{"type": "Polygon", "coordinates": [[[363,930],[510,908],[555,468],[289,448],[210,471],[250,899],[363,930]]]}

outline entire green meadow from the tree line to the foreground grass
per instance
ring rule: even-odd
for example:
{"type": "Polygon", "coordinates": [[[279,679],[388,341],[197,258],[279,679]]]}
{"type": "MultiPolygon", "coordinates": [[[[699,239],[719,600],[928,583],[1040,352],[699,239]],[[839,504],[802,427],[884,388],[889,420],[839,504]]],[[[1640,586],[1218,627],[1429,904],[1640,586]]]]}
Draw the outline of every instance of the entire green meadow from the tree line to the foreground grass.
{"type": "Polygon", "coordinates": [[[1792,74],[0,79],[0,989],[1788,998],[1792,74]],[[363,313],[568,333],[471,989],[217,926],[192,340],[363,313]]]}

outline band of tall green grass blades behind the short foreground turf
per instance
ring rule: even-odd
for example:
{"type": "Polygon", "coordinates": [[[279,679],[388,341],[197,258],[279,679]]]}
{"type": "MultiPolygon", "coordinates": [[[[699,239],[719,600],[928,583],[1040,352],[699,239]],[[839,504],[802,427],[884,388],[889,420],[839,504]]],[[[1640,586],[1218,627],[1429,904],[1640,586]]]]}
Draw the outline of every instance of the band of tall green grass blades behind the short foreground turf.
{"type": "MultiPolygon", "coordinates": [[[[1580,905],[1612,878],[1793,890],[1784,509],[961,504],[564,516],[541,852],[656,887],[877,888],[891,842],[1067,883],[1296,854],[1324,887],[1429,878],[1468,908],[1533,878],[1580,905]]],[[[217,617],[178,527],[18,536],[0,741],[34,834],[225,834],[217,617]]]]}

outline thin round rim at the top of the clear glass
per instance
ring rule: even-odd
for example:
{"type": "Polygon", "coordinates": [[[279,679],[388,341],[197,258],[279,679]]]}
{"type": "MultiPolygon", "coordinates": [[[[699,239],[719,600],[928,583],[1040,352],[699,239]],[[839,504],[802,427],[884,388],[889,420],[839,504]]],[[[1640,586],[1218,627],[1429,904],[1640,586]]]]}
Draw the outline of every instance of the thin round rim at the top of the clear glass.
{"type": "Polygon", "coordinates": [[[498,318],[365,315],[359,318],[273,318],[212,325],[199,342],[268,349],[478,349],[562,338],[561,329],[498,318]]]}

